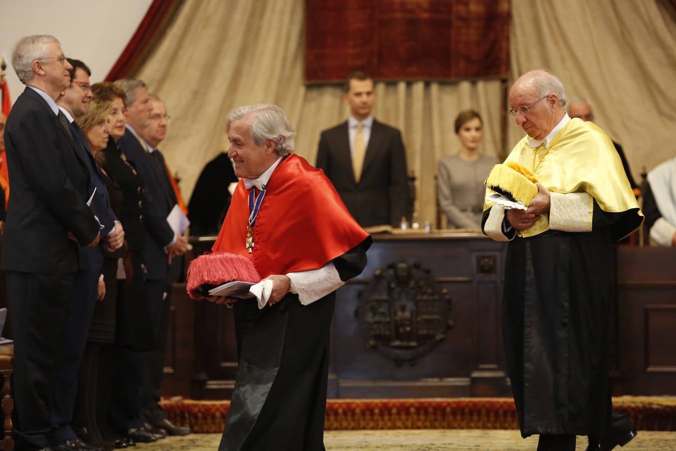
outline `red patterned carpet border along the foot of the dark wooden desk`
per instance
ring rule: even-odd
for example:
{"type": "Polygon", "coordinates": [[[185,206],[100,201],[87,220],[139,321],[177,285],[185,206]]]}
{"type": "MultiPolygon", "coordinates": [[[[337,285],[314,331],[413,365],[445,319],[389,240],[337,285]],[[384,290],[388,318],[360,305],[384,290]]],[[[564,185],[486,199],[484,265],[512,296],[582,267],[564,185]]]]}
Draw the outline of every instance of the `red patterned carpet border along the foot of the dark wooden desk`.
{"type": "MultiPolygon", "coordinates": [[[[628,414],[636,429],[676,430],[675,396],[620,396],[613,408],[628,414]]],[[[229,401],[162,401],[169,419],[197,433],[220,433],[229,401]]],[[[328,400],[324,429],[518,429],[512,398],[328,400]]]]}

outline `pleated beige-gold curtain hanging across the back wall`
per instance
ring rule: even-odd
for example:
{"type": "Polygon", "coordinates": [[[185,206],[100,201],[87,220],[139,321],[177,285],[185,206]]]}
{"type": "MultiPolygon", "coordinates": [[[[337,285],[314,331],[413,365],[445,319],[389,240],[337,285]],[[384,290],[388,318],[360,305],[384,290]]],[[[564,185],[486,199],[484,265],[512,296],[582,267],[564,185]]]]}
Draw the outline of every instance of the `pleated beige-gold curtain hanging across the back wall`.
{"type": "MultiPolygon", "coordinates": [[[[180,173],[186,199],[204,164],[227,149],[224,118],[231,110],[276,103],[297,130],[296,152],[312,164],[320,131],[347,118],[340,87],[303,84],[303,5],[303,0],[186,0],[134,74],[172,115],[160,149],[180,173]]],[[[656,5],[514,0],[512,16],[514,74],[548,67],[571,95],[589,97],[599,124],[627,149],[635,174],[640,161],[650,168],[673,155],[666,135],[673,135],[676,102],[667,86],[675,74],[676,27],[656,5]]],[[[504,153],[502,85],[498,80],[378,83],[376,92],[375,116],[402,130],[409,172],[416,176],[419,219],[434,223],[437,162],[458,151],[453,130],[458,112],[479,111],[483,151],[504,153]]],[[[513,122],[508,130],[511,144],[523,136],[513,122]]]]}

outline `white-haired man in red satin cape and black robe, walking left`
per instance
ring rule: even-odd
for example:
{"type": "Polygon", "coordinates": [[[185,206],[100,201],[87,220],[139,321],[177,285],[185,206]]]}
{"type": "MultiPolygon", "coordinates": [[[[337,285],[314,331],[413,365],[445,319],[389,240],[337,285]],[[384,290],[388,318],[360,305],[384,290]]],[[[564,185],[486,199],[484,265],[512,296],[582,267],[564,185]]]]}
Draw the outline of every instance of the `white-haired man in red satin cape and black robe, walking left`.
{"type": "Polygon", "coordinates": [[[242,180],[213,250],[251,258],[273,286],[262,309],[235,303],[239,368],[218,449],[323,450],[334,291],[362,272],[371,239],[322,171],[291,153],[279,107],[239,108],[226,128],[242,180]]]}

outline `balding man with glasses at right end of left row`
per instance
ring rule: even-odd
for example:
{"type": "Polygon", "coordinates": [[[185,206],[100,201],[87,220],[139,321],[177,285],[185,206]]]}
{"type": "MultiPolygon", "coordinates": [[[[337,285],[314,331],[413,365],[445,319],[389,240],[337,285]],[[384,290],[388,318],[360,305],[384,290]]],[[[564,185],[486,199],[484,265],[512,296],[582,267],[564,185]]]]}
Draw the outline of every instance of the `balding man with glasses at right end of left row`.
{"type": "MultiPolygon", "coordinates": [[[[145,141],[148,156],[153,169],[157,175],[158,181],[162,184],[162,190],[170,199],[170,204],[176,206],[178,198],[172,187],[168,166],[164,161],[162,152],[158,149],[158,145],[164,141],[167,135],[167,126],[169,124],[170,116],[167,114],[164,102],[156,95],[149,95],[151,103],[150,118],[148,126],[141,131],[141,137],[145,141]]],[[[169,435],[186,435],[190,433],[189,427],[179,427],[171,423],[167,417],[166,412],[158,402],[160,402],[160,385],[162,383],[162,374],[164,373],[164,350],[166,348],[166,334],[169,321],[169,306],[171,305],[172,285],[178,281],[181,269],[183,268],[183,260],[174,258],[169,264],[166,279],[164,280],[164,300],[162,308],[160,309],[159,321],[155,325],[155,350],[153,350],[150,373],[143,380],[141,385],[140,405],[141,412],[145,420],[154,427],[164,429],[169,435]]]]}

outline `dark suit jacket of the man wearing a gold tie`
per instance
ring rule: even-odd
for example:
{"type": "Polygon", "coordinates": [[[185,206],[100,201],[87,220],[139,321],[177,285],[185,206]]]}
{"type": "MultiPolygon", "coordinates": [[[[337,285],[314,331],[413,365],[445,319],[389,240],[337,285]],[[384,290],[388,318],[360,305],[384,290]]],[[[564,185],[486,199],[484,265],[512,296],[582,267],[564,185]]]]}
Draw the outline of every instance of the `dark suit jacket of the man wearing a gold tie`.
{"type": "Polygon", "coordinates": [[[352,171],[347,121],[322,132],[316,167],[324,170],[362,227],[399,227],[402,216],[408,216],[406,151],[396,128],[373,121],[359,183],[352,171]]]}

